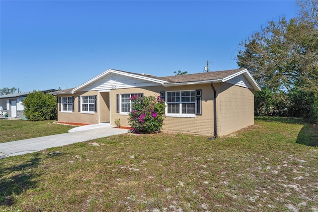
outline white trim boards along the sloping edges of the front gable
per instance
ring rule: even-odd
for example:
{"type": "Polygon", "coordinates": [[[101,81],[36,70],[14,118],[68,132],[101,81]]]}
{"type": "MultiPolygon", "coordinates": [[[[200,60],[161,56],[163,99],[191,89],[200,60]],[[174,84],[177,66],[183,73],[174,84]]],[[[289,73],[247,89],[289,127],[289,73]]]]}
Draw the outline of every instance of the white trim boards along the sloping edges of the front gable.
{"type": "Polygon", "coordinates": [[[146,81],[149,81],[149,82],[158,83],[160,85],[162,85],[163,83],[167,83],[167,81],[150,78],[150,77],[147,77],[147,75],[140,76],[140,75],[135,75],[135,74],[122,72],[122,71],[118,71],[118,70],[114,70],[114,69],[108,69],[107,71],[97,75],[96,77],[94,77],[94,78],[86,81],[85,83],[81,84],[80,86],[76,87],[75,89],[73,89],[71,91],[71,93],[74,94],[74,93],[78,92],[80,89],[82,89],[82,88],[84,88],[84,87],[96,82],[97,80],[109,75],[110,73],[118,74],[118,75],[122,75],[122,76],[126,76],[126,77],[132,77],[132,78],[136,78],[136,79],[141,79],[141,80],[146,80],[146,81]]]}

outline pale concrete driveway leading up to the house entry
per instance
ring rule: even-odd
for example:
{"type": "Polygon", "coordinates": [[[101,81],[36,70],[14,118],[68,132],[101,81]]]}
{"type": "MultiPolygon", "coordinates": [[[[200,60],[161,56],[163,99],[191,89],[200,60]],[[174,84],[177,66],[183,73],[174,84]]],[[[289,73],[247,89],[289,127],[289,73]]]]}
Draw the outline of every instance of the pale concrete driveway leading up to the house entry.
{"type": "Polygon", "coordinates": [[[0,159],[127,132],[127,129],[114,128],[107,123],[79,126],[68,133],[0,143],[0,159]]]}

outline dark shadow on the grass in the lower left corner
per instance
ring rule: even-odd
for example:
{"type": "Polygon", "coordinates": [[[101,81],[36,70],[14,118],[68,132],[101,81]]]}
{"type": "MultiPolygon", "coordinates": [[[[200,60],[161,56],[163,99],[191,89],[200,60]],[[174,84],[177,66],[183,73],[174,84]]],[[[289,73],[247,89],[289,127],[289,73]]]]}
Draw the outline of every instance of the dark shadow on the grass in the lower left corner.
{"type": "Polygon", "coordinates": [[[1,164],[0,174],[0,206],[10,206],[14,204],[14,196],[19,195],[25,190],[34,188],[37,185],[32,179],[38,176],[30,170],[39,164],[38,154],[28,161],[17,166],[5,166],[1,164]],[[5,177],[10,175],[10,177],[5,177]]]}

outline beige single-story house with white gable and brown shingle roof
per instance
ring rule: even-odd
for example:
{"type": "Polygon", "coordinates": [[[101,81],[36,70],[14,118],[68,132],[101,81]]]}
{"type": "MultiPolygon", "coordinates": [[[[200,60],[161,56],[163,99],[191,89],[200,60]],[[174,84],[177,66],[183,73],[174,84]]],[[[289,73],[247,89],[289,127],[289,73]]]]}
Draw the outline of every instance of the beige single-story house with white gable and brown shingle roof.
{"type": "Polygon", "coordinates": [[[254,124],[254,91],[246,69],[170,77],[108,69],[79,87],[56,91],[58,122],[129,126],[130,97],[164,99],[163,130],[223,136],[254,124]]]}

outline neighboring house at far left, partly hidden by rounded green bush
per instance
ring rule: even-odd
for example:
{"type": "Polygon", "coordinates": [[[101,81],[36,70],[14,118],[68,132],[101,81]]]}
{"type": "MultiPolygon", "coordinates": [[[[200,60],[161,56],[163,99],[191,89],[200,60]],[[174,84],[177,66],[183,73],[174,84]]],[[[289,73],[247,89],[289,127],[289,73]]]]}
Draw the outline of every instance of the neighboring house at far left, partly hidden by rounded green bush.
{"type": "MultiPolygon", "coordinates": [[[[41,91],[44,94],[49,92],[57,91],[56,89],[44,90],[41,91]]],[[[22,100],[26,98],[28,94],[31,92],[23,92],[23,93],[16,93],[16,94],[7,94],[0,96],[0,106],[4,112],[8,113],[8,117],[14,118],[25,118],[23,114],[24,106],[22,105],[22,100]]]]}

